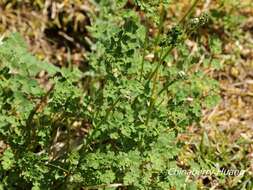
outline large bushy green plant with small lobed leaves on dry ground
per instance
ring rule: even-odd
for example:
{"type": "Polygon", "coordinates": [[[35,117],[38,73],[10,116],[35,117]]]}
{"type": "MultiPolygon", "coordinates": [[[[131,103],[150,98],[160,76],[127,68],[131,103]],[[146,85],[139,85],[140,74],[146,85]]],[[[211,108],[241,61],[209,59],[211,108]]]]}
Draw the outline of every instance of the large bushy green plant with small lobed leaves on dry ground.
{"type": "Polygon", "coordinates": [[[167,1],[135,1],[144,23],[126,3],[97,2],[85,71],[36,60],[18,34],[2,42],[3,187],[197,189],[168,170],[179,168],[178,134],[218,100],[217,82],[195,69],[199,52],[184,43],[207,16],[190,18],[195,1],[166,32],[167,1]]]}

